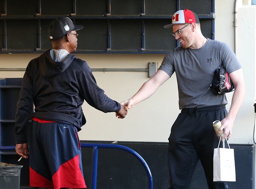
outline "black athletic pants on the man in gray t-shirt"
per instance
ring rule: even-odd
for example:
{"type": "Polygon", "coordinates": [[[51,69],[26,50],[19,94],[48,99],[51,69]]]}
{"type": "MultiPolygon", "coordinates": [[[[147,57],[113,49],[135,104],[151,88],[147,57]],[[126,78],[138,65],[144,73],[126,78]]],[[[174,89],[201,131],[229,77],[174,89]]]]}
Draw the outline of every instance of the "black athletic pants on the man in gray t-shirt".
{"type": "Polygon", "coordinates": [[[213,182],[213,151],[219,140],[212,122],[225,116],[227,110],[224,105],[181,110],[169,137],[169,189],[189,189],[199,159],[209,189],[228,189],[226,183],[213,182]]]}

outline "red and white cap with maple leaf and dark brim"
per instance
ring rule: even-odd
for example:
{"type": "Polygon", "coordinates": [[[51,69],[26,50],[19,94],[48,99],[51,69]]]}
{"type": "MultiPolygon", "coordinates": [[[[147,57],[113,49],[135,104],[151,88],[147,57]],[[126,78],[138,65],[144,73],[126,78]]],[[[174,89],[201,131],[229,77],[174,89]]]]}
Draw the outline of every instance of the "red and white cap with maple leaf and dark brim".
{"type": "Polygon", "coordinates": [[[172,24],[163,26],[164,28],[172,28],[175,24],[200,23],[195,12],[189,9],[183,9],[175,12],[172,16],[172,24]]]}

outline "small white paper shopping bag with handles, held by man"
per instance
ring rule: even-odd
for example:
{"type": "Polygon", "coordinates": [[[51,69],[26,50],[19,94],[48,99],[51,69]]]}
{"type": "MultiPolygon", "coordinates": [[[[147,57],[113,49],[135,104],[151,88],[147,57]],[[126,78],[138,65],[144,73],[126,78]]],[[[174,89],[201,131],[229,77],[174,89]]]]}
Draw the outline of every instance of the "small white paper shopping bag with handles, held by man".
{"type": "MultiPolygon", "coordinates": [[[[225,139],[226,140],[226,139],[225,139]]],[[[221,139],[220,139],[221,141],[221,139]]],[[[223,148],[214,149],[213,154],[213,181],[236,181],[236,168],[234,149],[225,148],[224,139],[222,135],[223,148]]]]}

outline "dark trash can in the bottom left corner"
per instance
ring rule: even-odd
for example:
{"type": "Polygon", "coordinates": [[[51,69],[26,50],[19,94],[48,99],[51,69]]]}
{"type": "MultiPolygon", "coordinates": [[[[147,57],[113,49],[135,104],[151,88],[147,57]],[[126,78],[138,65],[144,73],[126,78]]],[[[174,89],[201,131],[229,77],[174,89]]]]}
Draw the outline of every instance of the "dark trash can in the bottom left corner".
{"type": "Polygon", "coordinates": [[[0,188],[20,189],[20,169],[22,165],[0,162],[0,188]]]}

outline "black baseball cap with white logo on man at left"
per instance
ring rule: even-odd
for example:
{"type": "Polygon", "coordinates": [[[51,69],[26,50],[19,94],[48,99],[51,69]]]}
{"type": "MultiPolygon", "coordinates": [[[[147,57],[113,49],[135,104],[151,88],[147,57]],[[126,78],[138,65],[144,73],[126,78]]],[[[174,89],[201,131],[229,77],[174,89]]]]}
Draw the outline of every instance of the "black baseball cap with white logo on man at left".
{"type": "Polygon", "coordinates": [[[70,31],[81,30],[83,27],[82,25],[74,25],[68,17],[59,17],[52,20],[49,25],[49,38],[58,39],[70,33],[70,31]]]}

